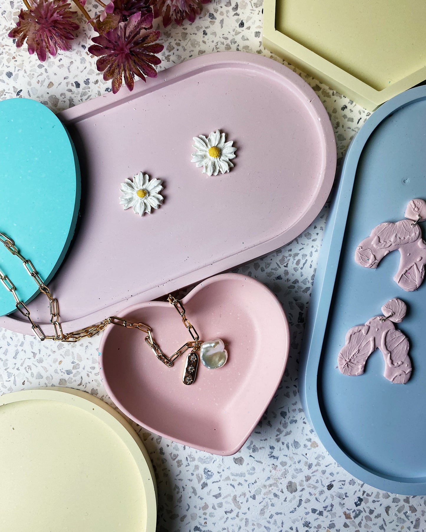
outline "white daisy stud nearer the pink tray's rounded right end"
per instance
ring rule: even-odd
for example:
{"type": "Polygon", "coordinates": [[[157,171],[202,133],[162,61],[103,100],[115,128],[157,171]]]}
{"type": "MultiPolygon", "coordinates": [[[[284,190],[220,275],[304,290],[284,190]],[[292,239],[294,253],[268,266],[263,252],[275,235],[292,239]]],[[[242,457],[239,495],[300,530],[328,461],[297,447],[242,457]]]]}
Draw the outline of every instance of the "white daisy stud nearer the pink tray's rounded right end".
{"type": "Polygon", "coordinates": [[[202,172],[208,176],[229,172],[234,168],[231,159],[235,158],[236,148],[232,147],[233,141],[225,142],[225,134],[219,130],[210,133],[206,138],[204,135],[193,137],[195,152],[192,154],[191,162],[197,167],[202,167],[202,172]]]}

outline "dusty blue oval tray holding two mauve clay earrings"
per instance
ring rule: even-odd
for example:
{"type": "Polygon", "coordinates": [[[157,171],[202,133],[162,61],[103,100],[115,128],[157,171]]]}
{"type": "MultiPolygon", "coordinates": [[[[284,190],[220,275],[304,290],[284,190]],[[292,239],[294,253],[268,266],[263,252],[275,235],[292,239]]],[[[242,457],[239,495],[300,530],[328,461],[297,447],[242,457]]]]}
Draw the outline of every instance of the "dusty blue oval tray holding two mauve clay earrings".
{"type": "MultiPolygon", "coordinates": [[[[363,482],[404,495],[426,494],[426,281],[405,292],[392,279],[399,253],[375,270],[354,261],[356,246],[381,222],[402,220],[409,200],[426,200],[426,87],[383,104],[348,149],[326,224],[302,347],[299,388],[326,450],[363,482]],[[407,303],[413,374],[405,385],[383,377],[376,350],[363,375],[337,369],[351,327],[392,297],[407,303]]],[[[420,223],[423,238],[426,224],[420,223]]]]}

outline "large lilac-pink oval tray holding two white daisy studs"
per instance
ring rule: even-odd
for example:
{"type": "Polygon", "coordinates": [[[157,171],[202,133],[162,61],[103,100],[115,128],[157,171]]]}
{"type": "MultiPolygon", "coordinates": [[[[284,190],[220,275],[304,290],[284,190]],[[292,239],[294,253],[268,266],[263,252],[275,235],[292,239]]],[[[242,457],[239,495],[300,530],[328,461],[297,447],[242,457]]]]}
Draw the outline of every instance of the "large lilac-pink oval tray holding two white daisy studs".
{"type": "MultiPolygon", "coordinates": [[[[64,332],[276,250],[315,219],[334,179],[320,99],[254,54],[198,57],[59,117],[81,167],[79,229],[50,283],[64,332]],[[237,148],[235,167],[208,177],[191,162],[193,137],[217,129],[237,148]],[[120,184],[140,171],[163,181],[165,197],[142,218],[119,201],[120,184]]],[[[29,259],[37,269],[37,250],[29,259]]],[[[45,298],[29,309],[49,323],[45,298]]],[[[0,325],[32,332],[16,313],[0,325]]]]}

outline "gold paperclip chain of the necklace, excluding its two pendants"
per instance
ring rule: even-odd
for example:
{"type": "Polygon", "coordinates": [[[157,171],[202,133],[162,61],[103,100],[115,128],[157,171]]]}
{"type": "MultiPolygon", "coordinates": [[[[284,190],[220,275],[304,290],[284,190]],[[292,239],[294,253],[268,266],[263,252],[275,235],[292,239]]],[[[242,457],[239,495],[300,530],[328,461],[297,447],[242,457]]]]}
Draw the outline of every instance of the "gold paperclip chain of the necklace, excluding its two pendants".
{"type": "Polygon", "coordinates": [[[145,325],[144,323],[134,323],[131,321],[127,321],[123,318],[117,318],[116,316],[110,316],[109,318],[105,318],[99,323],[95,323],[95,325],[91,325],[89,327],[85,327],[83,329],[78,329],[72,332],[63,332],[61,322],[59,319],[59,303],[58,300],[55,299],[48,287],[44,284],[43,280],[38,275],[37,270],[35,269],[32,262],[28,259],[25,259],[19,252],[18,248],[15,246],[15,243],[11,238],[6,236],[4,233],[0,232],[0,242],[3,243],[7,250],[12,253],[12,255],[15,255],[22,261],[22,264],[24,268],[27,270],[28,274],[34,279],[38,286],[38,290],[44,294],[48,300],[50,305],[50,314],[51,314],[51,323],[53,326],[53,335],[45,335],[43,330],[35,323],[32,318],[30,311],[28,310],[28,307],[20,300],[20,298],[17,295],[17,289],[14,286],[13,282],[5,275],[5,273],[0,270],[0,282],[2,282],[3,286],[9,290],[9,292],[12,293],[14,299],[15,299],[15,306],[19,310],[19,312],[23,315],[24,318],[27,318],[28,321],[31,323],[31,329],[34,331],[34,334],[43,342],[43,340],[56,340],[57,342],[70,342],[70,343],[76,343],[81,338],[92,338],[92,336],[95,336],[98,334],[98,332],[101,332],[103,329],[105,329],[108,325],[118,325],[121,327],[127,327],[132,329],[138,329],[142,332],[145,332],[145,342],[151,347],[152,351],[154,352],[155,356],[163,363],[166,364],[167,367],[171,368],[173,365],[173,362],[178,358],[178,356],[185,353],[185,351],[192,349],[193,351],[198,351],[201,346],[200,337],[198,335],[198,332],[196,332],[195,328],[191,323],[187,320],[185,315],[185,309],[181,303],[181,301],[177,300],[172,295],[169,295],[168,302],[175,306],[175,309],[179,312],[179,314],[182,317],[182,321],[185,325],[185,327],[189,330],[190,335],[193,342],[187,342],[182,347],[179,347],[173,355],[170,357],[167,357],[162,351],[161,348],[155,343],[155,340],[152,336],[152,329],[150,326],[145,325]]]}

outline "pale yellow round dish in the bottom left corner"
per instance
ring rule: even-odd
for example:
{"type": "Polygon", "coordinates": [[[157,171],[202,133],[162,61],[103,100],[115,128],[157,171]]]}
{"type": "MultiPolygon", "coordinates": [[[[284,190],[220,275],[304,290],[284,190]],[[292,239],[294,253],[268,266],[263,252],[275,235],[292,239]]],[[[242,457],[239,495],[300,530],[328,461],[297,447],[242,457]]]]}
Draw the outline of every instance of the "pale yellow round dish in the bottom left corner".
{"type": "Polygon", "coordinates": [[[71,388],[0,397],[2,532],[154,532],[148,452],[109,405],[71,388]]]}

